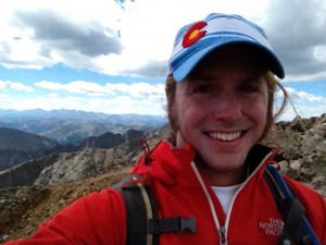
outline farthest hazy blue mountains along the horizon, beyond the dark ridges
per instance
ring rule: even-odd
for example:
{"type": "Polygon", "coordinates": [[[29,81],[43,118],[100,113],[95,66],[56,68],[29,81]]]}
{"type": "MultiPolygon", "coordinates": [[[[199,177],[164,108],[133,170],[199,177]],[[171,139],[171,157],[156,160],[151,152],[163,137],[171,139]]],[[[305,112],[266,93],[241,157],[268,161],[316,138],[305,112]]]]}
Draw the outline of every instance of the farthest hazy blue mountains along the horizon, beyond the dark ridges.
{"type": "Polygon", "coordinates": [[[46,136],[60,145],[78,145],[91,136],[128,130],[149,132],[166,123],[164,115],[105,114],[78,110],[2,110],[0,127],[46,136]]]}

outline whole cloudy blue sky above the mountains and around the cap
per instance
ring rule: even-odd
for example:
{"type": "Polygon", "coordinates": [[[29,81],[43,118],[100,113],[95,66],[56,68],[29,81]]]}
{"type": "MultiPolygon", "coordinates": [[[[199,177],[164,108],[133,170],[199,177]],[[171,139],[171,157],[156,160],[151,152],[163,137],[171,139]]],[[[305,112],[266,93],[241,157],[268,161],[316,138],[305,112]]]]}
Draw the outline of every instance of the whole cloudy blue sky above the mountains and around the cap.
{"type": "Polygon", "coordinates": [[[177,30],[209,13],[260,25],[294,105],[326,113],[325,0],[11,0],[0,9],[0,109],[165,114],[177,30]]]}

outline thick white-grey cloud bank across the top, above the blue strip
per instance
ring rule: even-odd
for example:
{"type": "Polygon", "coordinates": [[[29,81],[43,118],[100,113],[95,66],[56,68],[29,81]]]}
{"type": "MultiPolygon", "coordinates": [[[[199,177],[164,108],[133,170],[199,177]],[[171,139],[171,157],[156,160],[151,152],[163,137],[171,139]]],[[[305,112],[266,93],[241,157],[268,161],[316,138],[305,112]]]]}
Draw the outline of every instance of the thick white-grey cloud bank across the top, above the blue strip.
{"type": "Polygon", "coordinates": [[[326,77],[326,36],[321,35],[326,28],[326,2],[322,0],[84,0],[78,4],[13,0],[1,10],[0,63],[10,68],[41,69],[61,62],[129,75],[161,62],[156,73],[165,75],[178,28],[210,12],[225,12],[240,14],[266,30],[284,61],[287,79],[326,77]]]}

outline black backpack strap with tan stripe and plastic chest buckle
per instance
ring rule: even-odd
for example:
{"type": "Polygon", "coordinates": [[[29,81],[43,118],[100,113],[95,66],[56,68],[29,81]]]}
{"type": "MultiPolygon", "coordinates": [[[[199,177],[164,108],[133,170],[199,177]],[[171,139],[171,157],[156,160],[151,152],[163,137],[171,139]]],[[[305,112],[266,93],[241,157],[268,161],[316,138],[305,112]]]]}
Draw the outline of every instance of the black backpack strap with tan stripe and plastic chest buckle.
{"type": "Polygon", "coordinates": [[[121,192],[126,205],[126,245],[159,245],[159,235],[163,233],[196,232],[195,217],[159,219],[152,189],[137,183],[138,177],[128,176],[113,186],[121,192]]]}

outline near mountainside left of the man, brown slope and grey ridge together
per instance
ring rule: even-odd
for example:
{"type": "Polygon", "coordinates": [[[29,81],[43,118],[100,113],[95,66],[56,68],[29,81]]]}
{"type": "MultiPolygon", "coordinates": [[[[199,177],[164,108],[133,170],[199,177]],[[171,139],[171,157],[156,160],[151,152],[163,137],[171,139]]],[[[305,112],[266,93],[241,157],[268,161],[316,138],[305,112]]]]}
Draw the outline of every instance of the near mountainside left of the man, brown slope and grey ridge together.
{"type": "MultiPolygon", "coordinates": [[[[160,138],[165,138],[165,127],[147,134],[150,148],[160,138]]],[[[10,179],[14,174],[3,177],[0,172],[0,243],[29,235],[40,222],[51,218],[75,199],[117,183],[127,175],[141,151],[139,142],[130,139],[112,149],[88,148],[26,162],[18,171],[22,175],[15,180],[10,179]],[[43,171],[40,174],[38,170],[34,174],[33,171],[38,166],[42,166],[43,171]],[[21,177],[25,179],[24,184],[8,187],[8,183],[12,184],[21,177]]],[[[10,169],[2,174],[12,171],[10,169]]]]}

